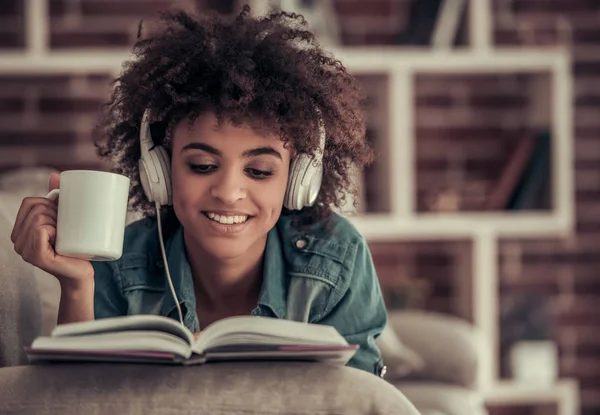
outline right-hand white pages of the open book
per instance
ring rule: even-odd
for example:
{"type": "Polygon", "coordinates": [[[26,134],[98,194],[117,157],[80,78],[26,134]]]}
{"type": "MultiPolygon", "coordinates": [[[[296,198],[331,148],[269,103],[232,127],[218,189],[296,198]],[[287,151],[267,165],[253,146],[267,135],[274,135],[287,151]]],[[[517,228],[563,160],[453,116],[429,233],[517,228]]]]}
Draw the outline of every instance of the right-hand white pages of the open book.
{"type": "Polygon", "coordinates": [[[193,350],[202,353],[228,345],[347,345],[331,326],[269,317],[236,316],[219,320],[202,331],[193,350]]]}

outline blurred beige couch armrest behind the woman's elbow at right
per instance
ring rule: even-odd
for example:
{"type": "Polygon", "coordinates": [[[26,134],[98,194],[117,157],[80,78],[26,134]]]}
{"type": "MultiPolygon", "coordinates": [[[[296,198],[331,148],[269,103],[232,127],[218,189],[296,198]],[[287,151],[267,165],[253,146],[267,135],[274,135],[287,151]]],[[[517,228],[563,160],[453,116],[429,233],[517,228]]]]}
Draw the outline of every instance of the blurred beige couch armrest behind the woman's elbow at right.
{"type": "Polygon", "coordinates": [[[455,316],[423,311],[391,311],[389,324],[400,340],[424,362],[412,379],[472,387],[478,374],[483,336],[455,316]]]}

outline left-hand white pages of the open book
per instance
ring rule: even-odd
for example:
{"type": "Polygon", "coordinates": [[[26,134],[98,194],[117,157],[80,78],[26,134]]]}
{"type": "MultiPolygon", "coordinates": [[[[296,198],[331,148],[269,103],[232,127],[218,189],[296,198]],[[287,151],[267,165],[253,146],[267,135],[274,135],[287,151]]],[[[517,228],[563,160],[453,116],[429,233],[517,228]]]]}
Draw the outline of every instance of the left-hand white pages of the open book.
{"type": "Polygon", "coordinates": [[[94,321],[61,324],[53,331],[52,337],[82,336],[89,334],[122,332],[122,331],[158,331],[175,335],[191,345],[194,335],[179,322],[163,316],[140,314],[103,318],[94,321]]]}

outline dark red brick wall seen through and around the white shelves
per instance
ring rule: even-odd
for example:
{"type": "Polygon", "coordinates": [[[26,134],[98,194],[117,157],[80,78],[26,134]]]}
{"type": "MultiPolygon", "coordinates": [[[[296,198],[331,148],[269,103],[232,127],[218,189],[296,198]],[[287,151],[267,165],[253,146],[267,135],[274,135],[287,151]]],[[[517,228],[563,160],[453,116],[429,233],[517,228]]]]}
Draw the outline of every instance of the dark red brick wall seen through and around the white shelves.
{"type": "MultiPolygon", "coordinates": [[[[393,43],[409,23],[413,1],[336,0],[344,43],[393,43]]],[[[561,375],[580,380],[584,415],[600,413],[600,2],[491,2],[498,45],[573,42],[577,235],[570,241],[502,241],[500,290],[502,298],[538,293],[552,300],[561,375]],[[565,36],[559,29],[569,26],[565,36]]],[[[141,17],[172,3],[49,0],[49,43],[57,50],[127,46],[141,17]]],[[[0,2],[2,50],[24,45],[22,5],[0,2]]],[[[0,171],[24,165],[102,168],[89,132],[107,97],[109,75],[0,75],[0,171]]],[[[418,76],[419,209],[457,176],[484,187],[497,176],[523,129],[531,127],[523,115],[527,82],[509,75],[418,76]]],[[[407,282],[422,280],[410,289],[412,305],[469,315],[470,306],[456,301],[469,278],[468,242],[372,243],[372,249],[390,303],[406,293],[407,282]]]]}

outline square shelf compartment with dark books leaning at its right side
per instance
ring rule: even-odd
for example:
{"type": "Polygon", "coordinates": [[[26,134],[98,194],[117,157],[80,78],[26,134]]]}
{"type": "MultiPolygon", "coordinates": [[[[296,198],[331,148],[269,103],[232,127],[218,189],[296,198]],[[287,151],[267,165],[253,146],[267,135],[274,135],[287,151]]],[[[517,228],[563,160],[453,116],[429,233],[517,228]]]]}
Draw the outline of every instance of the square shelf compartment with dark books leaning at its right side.
{"type": "Polygon", "coordinates": [[[543,72],[417,74],[417,212],[551,211],[551,90],[543,72]]]}

